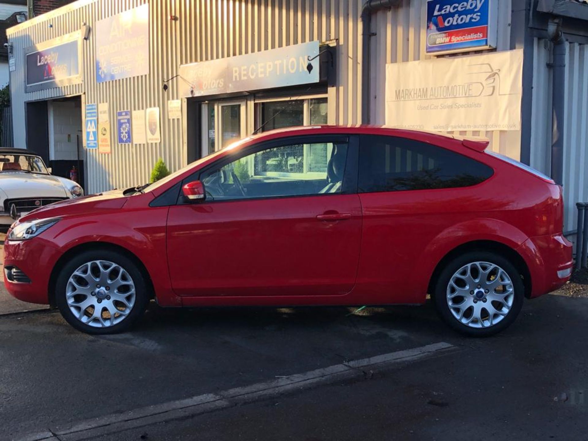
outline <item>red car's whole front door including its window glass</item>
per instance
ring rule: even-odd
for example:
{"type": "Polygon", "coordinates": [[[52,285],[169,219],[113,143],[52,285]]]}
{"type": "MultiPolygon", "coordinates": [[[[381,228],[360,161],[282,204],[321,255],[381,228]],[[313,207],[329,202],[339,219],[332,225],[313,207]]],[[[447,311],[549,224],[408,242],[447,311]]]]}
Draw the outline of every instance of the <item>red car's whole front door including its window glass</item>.
{"type": "Polygon", "coordinates": [[[206,199],[168,216],[182,296],[333,296],[355,284],[362,215],[357,138],[282,138],[217,162],[206,199]],[[355,176],[355,178],[354,178],[355,176]]]}

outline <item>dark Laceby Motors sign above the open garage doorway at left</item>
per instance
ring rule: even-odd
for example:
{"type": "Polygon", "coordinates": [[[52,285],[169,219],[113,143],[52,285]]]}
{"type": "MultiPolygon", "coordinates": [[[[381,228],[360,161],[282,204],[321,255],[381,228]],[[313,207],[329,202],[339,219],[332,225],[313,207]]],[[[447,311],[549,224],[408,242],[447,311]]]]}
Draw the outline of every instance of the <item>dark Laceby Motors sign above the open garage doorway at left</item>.
{"type": "Polygon", "coordinates": [[[79,32],[25,49],[26,91],[81,82],[79,32]]]}

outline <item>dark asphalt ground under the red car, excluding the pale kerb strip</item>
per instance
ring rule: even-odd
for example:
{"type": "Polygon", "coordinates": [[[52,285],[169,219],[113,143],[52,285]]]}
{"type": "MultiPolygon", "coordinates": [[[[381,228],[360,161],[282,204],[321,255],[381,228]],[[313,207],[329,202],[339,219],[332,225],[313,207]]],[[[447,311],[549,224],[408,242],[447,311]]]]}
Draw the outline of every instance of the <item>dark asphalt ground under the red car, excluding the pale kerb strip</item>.
{"type": "Polygon", "coordinates": [[[436,342],[459,349],[95,439],[586,439],[588,299],[526,302],[487,339],[456,335],[429,306],[349,314],[155,308],[104,337],[54,312],[0,317],[0,439],[436,342]]]}

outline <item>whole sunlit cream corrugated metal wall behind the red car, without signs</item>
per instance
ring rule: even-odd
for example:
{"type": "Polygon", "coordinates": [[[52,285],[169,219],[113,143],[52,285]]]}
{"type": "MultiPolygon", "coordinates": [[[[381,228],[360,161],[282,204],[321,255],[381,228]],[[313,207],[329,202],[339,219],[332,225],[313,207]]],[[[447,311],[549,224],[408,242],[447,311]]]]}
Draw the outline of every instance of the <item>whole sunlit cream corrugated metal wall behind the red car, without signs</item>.
{"type": "MultiPolygon", "coordinates": [[[[74,4],[39,16],[9,31],[14,43],[16,71],[12,72],[15,143],[25,145],[26,101],[64,95],[84,95],[83,103],[109,103],[110,155],[88,151],[89,185],[98,192],[146,182],[155,161],[161,157],[172,170],[186,163],[182,121],[168,119],[167,101],[176,95],[179,79],[162,90],[163,79],[178,73],[179,65],[225,56],[249,54],[308,41],[336,40],[338,45],[336,87],[329,88],[329,122],[354,124],[361,109],[361,0],[151,0],[149,75],[96,83],[95,43],[92,34],[83,41],[83,83],[25,93],[24,49],[35,43],[68,34],[85,22],[103,18],[145,3],[145,0],[78,0],[74,4]],[[172,21],[170,15],[178,16],[172,21]],[[52,27],[49,27],[49,24],[52,27]],[[159,106],[161,143],[125,145],[116,143],[113,130],[116,111],[159,106]]],[[[372,39],[372,122],[383,123],[385,113],[385,65],[424,58],[425,0],[403,0],[398,9],[376,14],[372,39]]],[[[510,48],[510,0],[500,2],[499,49],[510,48]]],[[[188,121],[196,124],[198,121],[188,121]]],[[[519,132],[470,132],[488,136],[492,148],[519,157],[519,132]]]]}

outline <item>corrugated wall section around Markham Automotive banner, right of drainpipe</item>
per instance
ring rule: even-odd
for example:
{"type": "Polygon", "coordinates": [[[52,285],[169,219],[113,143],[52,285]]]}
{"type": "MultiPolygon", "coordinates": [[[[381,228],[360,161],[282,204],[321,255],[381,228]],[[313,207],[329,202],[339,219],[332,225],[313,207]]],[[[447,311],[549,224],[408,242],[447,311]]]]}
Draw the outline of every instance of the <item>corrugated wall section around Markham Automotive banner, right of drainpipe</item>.
{"type": "MultiPolygon", "coordinates": [[[[510,49],[510,22],[512,16],[512,2],[500,0],[498,2],[498,42],[499,51],[510,49]]],[[[385,123],[385,90],[386,71],[382,66],[389,63],[417,61],[430,59],[425,54],[425,16],[426,0],[403,0],[399,9],[382,11],[376,14],[372,22],[372,30],[376,32],[372,41],[372,122],[385,123]]],[[[449,56],[466,56],[480,54],[484,51],[470,54],[449,56]]],[[[520,131],[468,131],[458,132],[460,135],[485,136],[490,139],[490,149],[503,153],[515,159],[520,159],[520,131]]]]}

